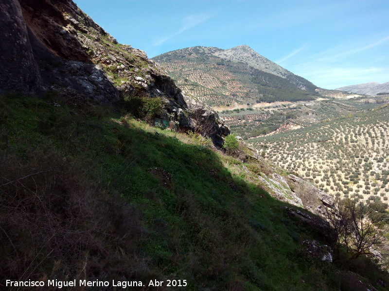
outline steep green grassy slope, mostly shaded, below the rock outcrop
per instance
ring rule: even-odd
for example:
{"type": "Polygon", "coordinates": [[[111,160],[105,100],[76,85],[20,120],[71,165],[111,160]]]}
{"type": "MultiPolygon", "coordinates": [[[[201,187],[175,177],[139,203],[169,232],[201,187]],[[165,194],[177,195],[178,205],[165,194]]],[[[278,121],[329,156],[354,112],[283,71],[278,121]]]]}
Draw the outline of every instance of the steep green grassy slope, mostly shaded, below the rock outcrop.
{"type": "Polygon", "coordinates": [[[0,284],[185,279],[185,289],[158,290],[307,291],[363,290],[362,280],[385,289],[367,260],[353,265],[360,277],[307,256],[301,242],[329,243],[328,234],[249,182],[258,162],[122,107],[45,98],[0,99],[0,284]]]}

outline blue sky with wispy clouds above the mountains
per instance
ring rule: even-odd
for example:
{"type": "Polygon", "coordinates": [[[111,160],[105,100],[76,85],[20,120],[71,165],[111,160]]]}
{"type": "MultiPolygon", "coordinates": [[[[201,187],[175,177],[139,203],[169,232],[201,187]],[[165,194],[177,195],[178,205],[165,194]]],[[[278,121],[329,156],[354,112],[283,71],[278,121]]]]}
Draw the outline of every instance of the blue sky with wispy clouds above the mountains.
{"type": "Polygon", "coordinates": [[[327,89],[389,81],[388,0],[74,0],[151,58],[249,45],[327,89]]]}

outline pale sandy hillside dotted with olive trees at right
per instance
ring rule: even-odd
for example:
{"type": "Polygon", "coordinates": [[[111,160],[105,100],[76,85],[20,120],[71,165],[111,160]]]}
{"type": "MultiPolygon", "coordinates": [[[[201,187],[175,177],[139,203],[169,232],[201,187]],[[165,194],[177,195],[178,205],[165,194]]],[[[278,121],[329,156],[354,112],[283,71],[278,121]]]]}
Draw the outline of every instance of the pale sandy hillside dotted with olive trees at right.
{"type": "Polygon", "coordinates": [[[388,104],[250,141],[276,165],[333,196],[388,200],[388,104]]]}

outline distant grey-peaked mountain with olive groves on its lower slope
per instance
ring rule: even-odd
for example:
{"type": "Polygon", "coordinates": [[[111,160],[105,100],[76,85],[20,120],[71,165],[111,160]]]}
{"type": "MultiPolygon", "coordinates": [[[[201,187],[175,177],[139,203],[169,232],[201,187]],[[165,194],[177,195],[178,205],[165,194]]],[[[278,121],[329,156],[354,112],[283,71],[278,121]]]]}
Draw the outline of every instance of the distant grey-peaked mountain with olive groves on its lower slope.
{"type": "Polygon", "coordinates": [[[213,106],[312,100],[317,86],[247,45],[232,49],[193,47],[153,58],[186,93],[213,106]]]}

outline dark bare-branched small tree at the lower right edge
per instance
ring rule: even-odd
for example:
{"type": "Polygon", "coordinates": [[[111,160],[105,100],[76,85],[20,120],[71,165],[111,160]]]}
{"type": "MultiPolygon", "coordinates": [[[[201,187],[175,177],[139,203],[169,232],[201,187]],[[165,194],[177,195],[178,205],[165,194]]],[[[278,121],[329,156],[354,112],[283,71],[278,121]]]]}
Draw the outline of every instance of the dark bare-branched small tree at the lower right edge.
{"type": "Polygon", "coordinates": [[[337,211],[327,211],[327,218],[337,234],[337,252],[344,247],[349,259],[360,256],[380,258],[377,249],[384,242],[385,214],[378,212],[371,202],[354,199],[337,201],[337,211]]]}

